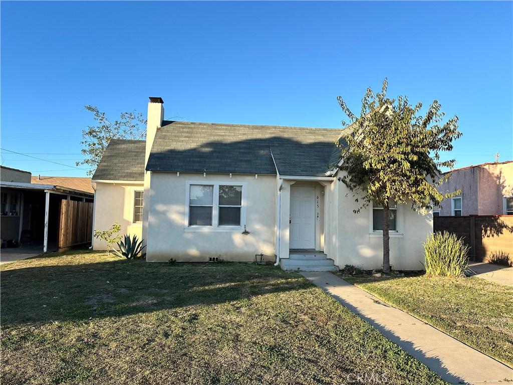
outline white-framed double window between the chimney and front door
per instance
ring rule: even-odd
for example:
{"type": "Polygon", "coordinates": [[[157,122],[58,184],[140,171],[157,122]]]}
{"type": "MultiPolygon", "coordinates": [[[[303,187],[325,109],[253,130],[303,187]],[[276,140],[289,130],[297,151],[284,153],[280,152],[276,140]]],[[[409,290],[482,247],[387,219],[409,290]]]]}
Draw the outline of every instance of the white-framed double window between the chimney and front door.
{"type": "Polygon", "coordinates": [[[244,226],[244,183],[187,182],[186,227],[222,230],[244,226]]]}

